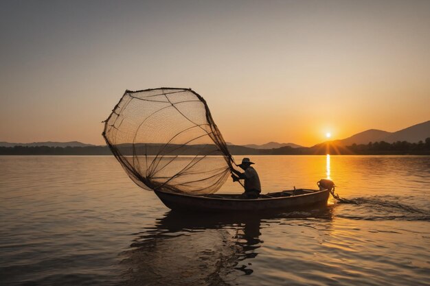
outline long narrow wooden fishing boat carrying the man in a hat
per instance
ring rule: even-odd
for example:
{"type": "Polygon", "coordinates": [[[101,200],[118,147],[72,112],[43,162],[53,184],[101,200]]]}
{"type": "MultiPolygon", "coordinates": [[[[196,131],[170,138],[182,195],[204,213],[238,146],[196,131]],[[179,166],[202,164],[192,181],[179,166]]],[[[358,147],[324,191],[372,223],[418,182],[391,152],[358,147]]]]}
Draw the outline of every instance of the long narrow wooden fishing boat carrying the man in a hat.
{"type": "Polygon", "coordinates": [[[155,194],[163,204],[174,211],[286,212],[311,206],[327,205],[332,185],[320,184],[319,190],[293,189],[267,193],[260,195],[257,199],[243,199],[240,198],[240,195],[235,194],[188,195],[159,190],[155,191],[155,194]]]}

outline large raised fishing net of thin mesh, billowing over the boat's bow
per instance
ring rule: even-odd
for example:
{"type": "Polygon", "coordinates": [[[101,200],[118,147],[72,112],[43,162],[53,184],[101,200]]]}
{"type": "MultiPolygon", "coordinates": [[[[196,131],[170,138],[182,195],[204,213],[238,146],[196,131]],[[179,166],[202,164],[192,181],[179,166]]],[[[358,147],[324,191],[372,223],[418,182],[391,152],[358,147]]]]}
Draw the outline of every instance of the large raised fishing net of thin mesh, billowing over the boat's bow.
{"type": "Polygon", "coordinates": [[[214,193],[234,164],[205,99],[191,89],[126,91],[103,136],[144,189],[214,193]]]}

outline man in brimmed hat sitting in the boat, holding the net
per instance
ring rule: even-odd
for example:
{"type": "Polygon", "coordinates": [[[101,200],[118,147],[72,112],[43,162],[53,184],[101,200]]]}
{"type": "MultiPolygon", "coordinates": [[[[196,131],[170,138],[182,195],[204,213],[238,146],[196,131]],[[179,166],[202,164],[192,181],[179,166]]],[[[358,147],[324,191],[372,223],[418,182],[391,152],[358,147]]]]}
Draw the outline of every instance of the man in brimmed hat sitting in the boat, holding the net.
{"type": "Polygon", "coordinates": [[[251,167],[251,165],[254,164],[249,160],[249,158],[243,158],[242,164],[238,165],[240,168],[242,168],[245,172],[240,173],[240,171],[237,171],[235,169],[232,169],[231,171],[234,174],[231,174],[231,178],[233,178],[234,182],[237,182],[238,180],[245,180],[245,193],[242,193],[240,195],[240,198],[245,199],[256,199],[260,196],[261,193],[261,184],[260,184],[260,178],[258,178],[258,174],[256,169],[251,167]]]}

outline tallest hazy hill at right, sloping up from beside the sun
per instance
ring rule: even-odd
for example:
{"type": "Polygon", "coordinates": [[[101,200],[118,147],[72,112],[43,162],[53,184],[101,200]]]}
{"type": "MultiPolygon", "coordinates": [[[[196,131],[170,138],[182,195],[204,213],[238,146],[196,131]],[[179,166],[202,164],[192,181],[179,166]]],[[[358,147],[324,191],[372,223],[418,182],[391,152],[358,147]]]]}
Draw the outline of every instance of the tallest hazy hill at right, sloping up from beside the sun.
{"type": "Polygon", "coordinates": [[[353,143],[367,144],[369,142],[379,141],[385,141],[387,143],[396,141],[417,143],[418,141],[425,141],[427,137],[430,137],[430,120],[396,132],[370,129],[334,142],[343,146],[352,145],[353,143]]]}

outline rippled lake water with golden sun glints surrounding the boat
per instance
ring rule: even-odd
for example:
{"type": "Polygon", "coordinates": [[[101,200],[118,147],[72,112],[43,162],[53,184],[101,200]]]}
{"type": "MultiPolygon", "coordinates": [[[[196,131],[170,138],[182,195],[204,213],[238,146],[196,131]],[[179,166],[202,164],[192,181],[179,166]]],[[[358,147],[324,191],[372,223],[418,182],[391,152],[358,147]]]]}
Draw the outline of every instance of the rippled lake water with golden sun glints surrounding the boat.
{"type": "Polygon", "coordinates": [[[179,215],[112,156],[0,156],[0,284],[430,285],[430,156],[251,159],[263,193],[329,177],[359,204],[179,215]]]}

